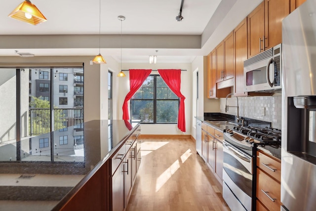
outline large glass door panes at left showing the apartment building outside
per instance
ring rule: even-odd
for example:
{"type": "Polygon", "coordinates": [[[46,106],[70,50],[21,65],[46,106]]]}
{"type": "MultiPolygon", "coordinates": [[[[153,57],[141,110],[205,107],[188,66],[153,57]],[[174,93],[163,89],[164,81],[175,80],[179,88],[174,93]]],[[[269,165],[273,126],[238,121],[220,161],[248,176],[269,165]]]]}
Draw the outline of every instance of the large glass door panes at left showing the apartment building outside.
{"type": "MultiPolygon", "coordinates": [[[[0,106],[0,161],[14,161],[17,157],[17,96],[21,111],[21,160],[51,161],[42,155],[51,157],[59,153],[61,158],[82,154],[83,82],[83,67],[1,69],[0,93],[5,101],[0,106]],[[16,90],[17,73],[20,74],[20,90],[16,90]],[[59,138],[54,137],[54,146],[47,135],[51,129],[55,131],[54,136],[61,134],[59,138]],[[51,150],[53,147],[55,150],[51,150]]],[[[82,160],[75,157],[72,162],[82,160]]]]}

